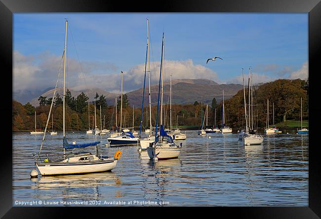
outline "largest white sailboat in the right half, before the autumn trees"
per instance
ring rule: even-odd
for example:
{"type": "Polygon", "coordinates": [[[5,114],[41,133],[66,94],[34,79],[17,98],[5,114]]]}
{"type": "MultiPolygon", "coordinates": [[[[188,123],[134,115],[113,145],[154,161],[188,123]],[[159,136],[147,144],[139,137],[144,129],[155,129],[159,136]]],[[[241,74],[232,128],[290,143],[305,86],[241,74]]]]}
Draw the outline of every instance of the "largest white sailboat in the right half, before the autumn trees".
{"type": "MultiPolygon", "coordinates": [[[[243,68],[242,68],[243,70],[243,68]]],[[[242,71],[243,76],[243,71],[242,71]]],[[[260,145],[263,142],[263,136],[255,134],[255,131],[253,130],[253,118],[252,123],[250,123],[250,104],[248,104],[248,116],[246,114],[246,100],[245,100],[245,86],[244,86],[244,76],[243,76],[243,94],[244,94],[244,116],[245,116],[245,129],[242,129],[239,132],[239,139],[243,141],[244,145],[260,145]],[[248,123],[247,123],[248,118],[248,123]],[[250,128],[250,124],[252,124],[252,127],[250,128]]],[[[250,93],[250,74],[249,74],[249,80],[248,80],[248,103],[250,102],[250,94],[252,94],[252,91],[250,93]]],[[[253,96],[252,96],[253,98],[253,96]]],[[[253,112],[253,100],[252,100],[252,112],[253,112]]]]}

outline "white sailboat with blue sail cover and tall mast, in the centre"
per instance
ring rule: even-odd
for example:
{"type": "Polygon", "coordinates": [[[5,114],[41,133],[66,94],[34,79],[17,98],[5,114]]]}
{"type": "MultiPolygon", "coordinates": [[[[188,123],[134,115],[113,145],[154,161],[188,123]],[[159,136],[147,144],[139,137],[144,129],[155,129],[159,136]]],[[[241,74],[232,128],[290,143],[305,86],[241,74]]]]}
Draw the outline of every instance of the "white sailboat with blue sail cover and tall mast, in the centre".
{"type": "Polygon", "coordinates": [[[147,147],[148,156],[151,159],[170,159],[176,158],[179,156],[182,148],[182,143],[176,145],[169,135],[164,131],[162,124],[162,94],[163,94],[163,59],[164,59],[164,32],[162,37],[162,46],[161,46],[161,71],[160,71],[160,83],[159,83],[159,94],[158,94],[158,102],[157,102],[157,117],[156,117],[156,131],[155,131],[155,141],[147,147]],[[158,113],[160,108],[160,91],[161,91],[161,128],[160,134],[157,135],[158,130],[158,113]]]}

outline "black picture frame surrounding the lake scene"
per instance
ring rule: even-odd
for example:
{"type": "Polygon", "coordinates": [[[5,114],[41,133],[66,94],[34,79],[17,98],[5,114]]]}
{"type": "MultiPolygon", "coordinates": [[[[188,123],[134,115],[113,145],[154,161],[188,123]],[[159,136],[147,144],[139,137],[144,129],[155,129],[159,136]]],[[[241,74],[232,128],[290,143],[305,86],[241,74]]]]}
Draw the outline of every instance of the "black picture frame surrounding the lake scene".
{"type": "MultiPolygon", "coordinates": [[[[0,0],[0,63],[3,85],[0,104],[2,115],[12,113],[12,96],[8,95],[6,81],[12,80],[13,48],[13,13],[50,13],[50,12],[258,12],[258,13],[309,13],[309,207],[163,207],[131,208],[128,213],[136,212],[144,217],[171,215],[173,210],[184,213],[196,213],[197,217],[231,217],[238,218],[319,218],[321,217],[321,162],[316,141],[317,125],[320,123],[321,107],[318,101],[319,57],[321,53],[321,2],[320,0],[163,0],[159,2],[106,1],[106,0],[0,0]],[[153,6],[152,6],[153,5],[153,6]],[[10,74],[11,72],[11,74],[10,74]],[[6,75],[6,76],[5,76],[6,75]],[[315,141],[314,141],[315,139],[315,141]],[[206,211],[206,213],[203,213],[206,211]],[[318,217],[319,216],[319,217],[318,217]]],[[[2,157],[0,171],[1,204],[0,216],[3,218],[81,218],[110,217],[122,214],[123,208],[96,207],[12,207],[12,148],[10,146],[10,116],[2,118],[2,157]],[[99,216],[97,211],[103,211],[99,216]],[[67,216],[71,213],[75,216],[67,216]],[[107,214],[106,214],[107,213],[107,214]],[[97,214],[97,215],[96,215],[97,214]]],[[[11,133],[11,134],[10,134],[11,133]]],[[[12,141],[11,141],[12,143],[12,141]]]]}

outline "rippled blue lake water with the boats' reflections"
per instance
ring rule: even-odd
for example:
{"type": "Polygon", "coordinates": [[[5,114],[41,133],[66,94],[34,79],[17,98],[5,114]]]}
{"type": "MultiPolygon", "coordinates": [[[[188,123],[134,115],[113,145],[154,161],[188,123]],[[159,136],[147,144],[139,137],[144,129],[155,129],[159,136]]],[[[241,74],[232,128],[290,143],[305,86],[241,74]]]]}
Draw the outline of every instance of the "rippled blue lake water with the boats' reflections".
{"type": "MultiPolygon", "coordinates": [[[[308,135],[273,134],[259,146],[242,145],[237,134],[186,135],[176,159],[154,162],[121,147],[112,172],[30,179],[42,135],[13,133],[13,206],[308,206],[308,135]]],[[[107,137],[97,137],[100,153],[114,156],[107,137]]],[[[41,153],[62,154],[62,132],[46,135],[45,144],[41,153]]]]}

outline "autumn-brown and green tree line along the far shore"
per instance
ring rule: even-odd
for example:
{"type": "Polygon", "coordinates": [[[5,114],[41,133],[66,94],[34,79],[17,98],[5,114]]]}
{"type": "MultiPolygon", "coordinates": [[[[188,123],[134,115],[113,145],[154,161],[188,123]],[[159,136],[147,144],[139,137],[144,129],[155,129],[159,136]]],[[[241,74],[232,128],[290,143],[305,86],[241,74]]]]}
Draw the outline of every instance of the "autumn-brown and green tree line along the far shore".
{"type": "MultiPolygon", "coordinates": [[[[308,80],[288,80],[279,79],[273,82],[257,84],[253,87],[253,122],[255,127],[265,127],[267,117],[267,99],[269,99],[269,118],[270,124],[273,122],[272,106],[274,103],[275,124],[285,122],[286,120],[299,120],[302,97],[303,119],[308,119],[308,80]]],[[[247,89],[245,89],[247,101],[247,89]]],[[[132,127],[133,123],[133,106],[130,105],[126,94],[122,96],[122,127],[132,127]]],[[[34,107],[30,103],[25,105],[13,100],[12,101],[12,131],[31,131],[35,129],[35,112],[36,126],[44,130],[47,116],[49,113],[52,98],[46,96],[39,97],[39,106],[34,107]]],[[[120,96],[117,98],[117,124],[116,108],[114,103],[107,103],[104,95],[96,93],[94,101],[89,101],[89,97],[81,93],[73,96],[67,90],[65,96],[66,104],[66,130],[87,130],[95,124],[94,112],[96,105],[96,126],[100,128],[100,107],[102,128],[115,129],[120,126],[120,96]],[[89,104],[88,104],[89,102],[89,104]],[[89,116],[88,116],[89,105],[89,116]]],[[[247,103],[248,104],[248,103],[247,103]]],[[[50,115],[47,130],[62,130],[63,127],[63,100],[60,94],[56,94],[53,102],[53,108],[50,115]],[[53,116],[53,127],[51,123],[53,116]]],[[[225,121],[232,128],[241,128],[245,124],[244,119],[244,95],[243,90],[228,100],[224,101],[225,121]]],[[[144,107],[143,128],[149,126],[149,120],[155,126],[157,105],[152,106],[152,118],[149,117],[149,109],[144,107]],[[147,112],[147,113],[146,113],[147,112]]],[[[206,105],[195,101],[194,104],[173,104],[172,105],[172,124],[173,126],[187,125],[194,128],[200,128],[204,122],[206,105]]],[[[222,101],[216,102],[213,98],[208,106],[208,126],[216,123],[220,126],[222,121],[222,101]],[[216,121],[215,118],[216,109],[216,121]]],[[[163,123],[169,127],[169,105],[164,105],[163,123]]],[[[141,106],[134,107],[134,126],[138,130],[141,120],[141,106]]],[[[206,124],[206,120],[204,125],[206,124]]]]}

